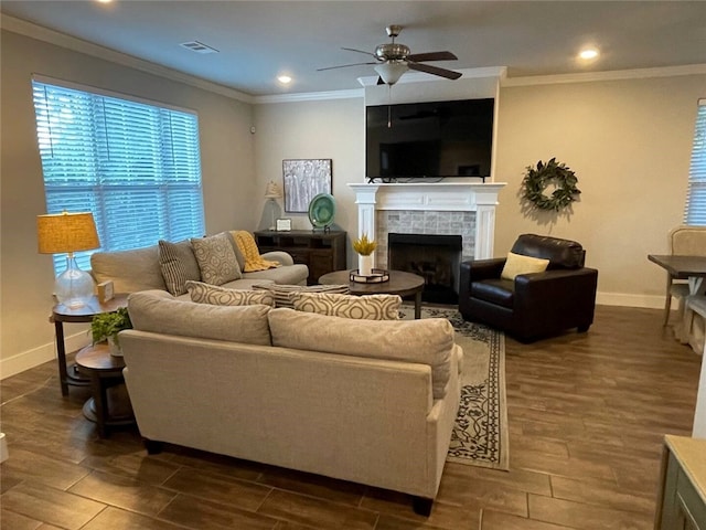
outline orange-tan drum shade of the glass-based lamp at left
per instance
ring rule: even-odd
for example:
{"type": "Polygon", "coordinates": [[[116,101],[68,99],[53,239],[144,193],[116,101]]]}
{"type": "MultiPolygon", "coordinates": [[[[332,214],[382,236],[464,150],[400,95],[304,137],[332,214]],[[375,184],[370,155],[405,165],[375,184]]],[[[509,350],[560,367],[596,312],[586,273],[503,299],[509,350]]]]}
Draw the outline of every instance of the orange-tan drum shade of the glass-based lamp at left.
{"type": "Polygon", "coordinates": [[[90,251],[100,246],[93,213],[56,213],[36,216],[40,254],[90,251]]]}

